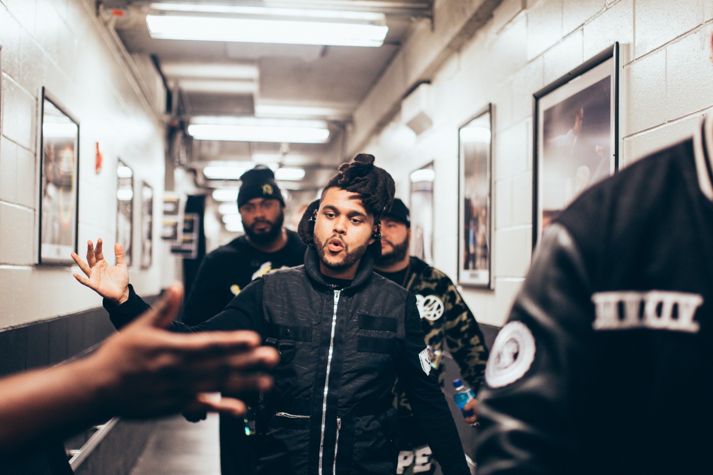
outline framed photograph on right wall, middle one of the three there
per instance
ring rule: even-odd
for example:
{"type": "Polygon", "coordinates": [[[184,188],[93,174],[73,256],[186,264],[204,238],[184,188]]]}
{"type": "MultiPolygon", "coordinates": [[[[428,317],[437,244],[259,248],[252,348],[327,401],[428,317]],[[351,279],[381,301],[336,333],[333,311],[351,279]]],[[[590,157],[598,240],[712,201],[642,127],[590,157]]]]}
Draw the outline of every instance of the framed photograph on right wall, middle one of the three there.
{"type": "Polygon", "coordinates": [[[492,106],[458,129],[458,283],[493,288],[492,106]]]}

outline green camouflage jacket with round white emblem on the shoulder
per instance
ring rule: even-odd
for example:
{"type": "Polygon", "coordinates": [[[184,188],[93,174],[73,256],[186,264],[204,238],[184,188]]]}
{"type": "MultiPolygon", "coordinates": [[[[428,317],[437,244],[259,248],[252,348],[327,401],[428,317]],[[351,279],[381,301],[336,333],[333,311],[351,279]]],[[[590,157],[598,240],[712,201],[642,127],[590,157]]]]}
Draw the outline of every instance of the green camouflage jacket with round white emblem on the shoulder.
{"type": "MultiPolygon", "coordinates": [[[[488,360],[488,348],[476,318],[456,286],[445,273],[414,256],[409,261],[404,283],[406,290],[416,294],[426,345],[431,347],[431,360],[436,365],[441,387],[443,366],[439,363],[446,350],[443,344],[447,343],[448,353],[458,363],[463,381],[478,392],[488,360]]],[[[394,392],[399,417],[409,417],[411,407],[398,381],[394,392]]]]}

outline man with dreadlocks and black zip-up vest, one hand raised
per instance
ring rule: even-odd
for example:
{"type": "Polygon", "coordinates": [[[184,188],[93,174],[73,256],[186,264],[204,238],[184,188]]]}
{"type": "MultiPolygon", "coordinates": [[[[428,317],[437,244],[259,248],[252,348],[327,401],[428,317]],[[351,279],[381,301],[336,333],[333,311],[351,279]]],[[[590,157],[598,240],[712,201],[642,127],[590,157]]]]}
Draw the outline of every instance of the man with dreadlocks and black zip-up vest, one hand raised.
{"type": "MultiPolygon", "coordinates": [[[[416,297],[372,271],[379,219],[394,179],[357,155],[307,208],[304,266],[266,274],[202,325],[255,330],[280,353],[275,390],[262,397],[258,474],[394,474],[398,448],[391,389],[398,375],[443,474],[469,474],[446,400],[431,372],[416,297]]],[[[117,251],[121,251],[117,245],[117,251]]],[[[147,308],[106,261],[81,262],[85,285],[122,327],[147,308]],[[118,284],[117,284],[118,283],[118,284]]],[[[81,259],[80,259],[81,261],[81,259]]]]}

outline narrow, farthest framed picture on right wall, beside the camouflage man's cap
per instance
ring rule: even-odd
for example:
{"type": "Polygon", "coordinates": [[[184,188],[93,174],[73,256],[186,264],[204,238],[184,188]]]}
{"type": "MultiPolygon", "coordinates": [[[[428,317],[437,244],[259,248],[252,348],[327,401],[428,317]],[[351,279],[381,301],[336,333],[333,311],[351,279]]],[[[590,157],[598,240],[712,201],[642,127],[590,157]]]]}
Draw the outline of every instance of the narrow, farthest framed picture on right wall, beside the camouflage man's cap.
{"type": "Polygon", "coordinates": [[[411,172],[411,256],[434,263],[434,162],[411,172]]]}

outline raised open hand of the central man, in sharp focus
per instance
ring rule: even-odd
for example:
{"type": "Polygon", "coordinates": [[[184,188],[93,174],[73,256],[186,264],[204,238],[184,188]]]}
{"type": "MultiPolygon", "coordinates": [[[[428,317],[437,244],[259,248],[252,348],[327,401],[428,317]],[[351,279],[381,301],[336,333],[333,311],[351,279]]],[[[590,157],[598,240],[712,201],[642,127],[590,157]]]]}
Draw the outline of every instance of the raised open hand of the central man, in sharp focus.
{"type": "Polygon", "coordinates": [[[96,241],[96,249],[92,241],[87,241],[87,261],[84,262],[72,253],[72,259],[77,263],[84,276],[78,273],[72,275],[79,283],[91,288],[100,296],[116,304],[124,303],[129,298],[129,270],[124,262],[124,250],[121,244],[114,244],[116,266],[110,266],[102,252],[101,238],[96,241]]]}

